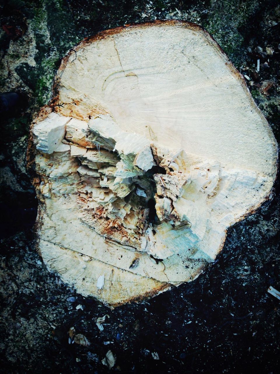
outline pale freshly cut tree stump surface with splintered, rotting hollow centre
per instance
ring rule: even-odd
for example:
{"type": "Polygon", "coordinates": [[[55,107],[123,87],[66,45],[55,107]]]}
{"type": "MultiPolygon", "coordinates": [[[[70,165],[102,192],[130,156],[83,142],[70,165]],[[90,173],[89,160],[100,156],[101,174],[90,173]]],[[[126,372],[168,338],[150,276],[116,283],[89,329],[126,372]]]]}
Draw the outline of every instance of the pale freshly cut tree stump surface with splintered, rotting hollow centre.
{"type": "Polygon", "coordinates": [[[71,49],[31,140],[43,260],[112,307],[195,279],[276,178],[276,141],[243,77],[187,22],[71,49]]]}

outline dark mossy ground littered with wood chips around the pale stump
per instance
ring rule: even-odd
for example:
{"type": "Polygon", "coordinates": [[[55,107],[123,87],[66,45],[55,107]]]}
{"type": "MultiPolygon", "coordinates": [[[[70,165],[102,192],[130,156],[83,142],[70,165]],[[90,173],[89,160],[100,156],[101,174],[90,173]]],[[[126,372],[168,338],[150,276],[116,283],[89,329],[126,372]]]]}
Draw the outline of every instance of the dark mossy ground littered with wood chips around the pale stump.
{"type": "Polygon", "coordinates": [[[271,199],[231,227],[211,268],[141,304],[111,310],[82,297],[46,270],[34,248],[28,128],[50,98],[61,58],[97,31],[154,19],[209,31],[246,75],[280,141],[279,1],[0,1],[0,92],[28,98],[1,121],[1,373],[107,373],[109,350],[118,373],[279,372],[280,301],[267,293],[280,290],[279,179],[271,199]],[[100,331],[96,320],[105,315],[100,331]],[[90,345],[69,339],[72,327],[90,345]]]}

